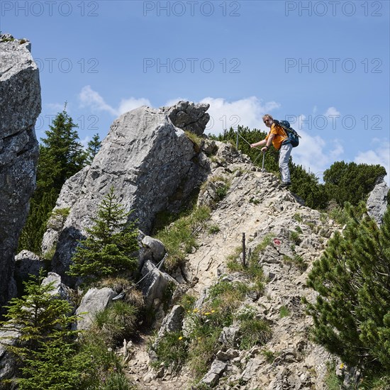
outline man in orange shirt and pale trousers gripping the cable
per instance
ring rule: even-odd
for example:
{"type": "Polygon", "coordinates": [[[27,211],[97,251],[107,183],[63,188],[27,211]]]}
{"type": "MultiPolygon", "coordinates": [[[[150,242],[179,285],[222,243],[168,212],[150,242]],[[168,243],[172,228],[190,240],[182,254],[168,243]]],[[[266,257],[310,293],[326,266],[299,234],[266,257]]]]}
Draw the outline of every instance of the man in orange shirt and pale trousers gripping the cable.
{"type": "Polygon", "coordinates": [[[265,126],[271,128],[269,134],[264,140],[261,140],[258,143],[252,143],[250,147],[262,146],[262,152],[267,152],[269,147],[274,145],[276,150],[279,150],[279,169],[280,174],[282,175],[282,184],[280,186],[286,187],[291,186],[290,179],[290,169],[289,169],[289,158],[291,155],[292,145],[289,140],[289,137],[286,135],[286,132],[283,130],[282,126],[274,123],[274,118],[266,113],[262,120],[265,123],[265,126]]]}

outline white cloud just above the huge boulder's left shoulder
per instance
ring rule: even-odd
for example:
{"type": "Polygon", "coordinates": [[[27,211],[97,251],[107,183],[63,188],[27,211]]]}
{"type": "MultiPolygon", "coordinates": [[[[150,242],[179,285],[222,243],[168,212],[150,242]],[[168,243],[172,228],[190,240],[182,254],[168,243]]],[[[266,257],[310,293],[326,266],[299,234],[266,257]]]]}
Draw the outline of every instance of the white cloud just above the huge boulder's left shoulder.
{"type": "Polygon", "coordinates": [[[140,106],[151,106],[149,99],[130,97],[128,99],[122,99],[118,108],[114,108],[104,101],[99,92],[91,89],[90,85],[82,88],[79,94],[79,100],[82,107],[90,107],[92,111],[107,111],[113,116],[120,116],[140,106]]]}

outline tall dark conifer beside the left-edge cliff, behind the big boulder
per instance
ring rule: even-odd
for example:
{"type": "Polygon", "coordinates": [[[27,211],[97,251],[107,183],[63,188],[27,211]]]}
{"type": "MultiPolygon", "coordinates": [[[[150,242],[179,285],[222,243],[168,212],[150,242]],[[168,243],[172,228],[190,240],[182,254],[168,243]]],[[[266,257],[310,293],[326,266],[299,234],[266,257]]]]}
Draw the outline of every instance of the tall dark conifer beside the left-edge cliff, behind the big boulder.
{"type": "Polygon", "coordinates": [[[50,213],[55,206],[65,180],[82,169],[87,154],[78,142],[79,136],[65,108],[49,126],[42,138],[38,160],[37,187],[30,201],[30,211],[19,238],[18,250],[40,254],[40,245],[50,213]]]}

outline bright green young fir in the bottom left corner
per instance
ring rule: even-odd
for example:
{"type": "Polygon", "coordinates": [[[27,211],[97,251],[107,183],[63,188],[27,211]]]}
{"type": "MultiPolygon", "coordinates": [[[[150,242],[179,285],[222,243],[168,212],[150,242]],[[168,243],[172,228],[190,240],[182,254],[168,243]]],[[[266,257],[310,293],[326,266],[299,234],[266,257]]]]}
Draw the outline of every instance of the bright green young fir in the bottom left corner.
{"type": "MultiPolygon", "coordinates": [[[[82,377],[92,375],[90,354],[79,351],[78,331],[70,325],[72,305],[52,294],[53,284],[42,284],[43,272],[25,284],[25,294],[10,301],[1,328],[13,330],[19,337],[6,344],[18,362],[18,375],[11,379],[21,390],[82,388],[82,377]]],[[[12,336],[10,336],[11,338],[12,336]]]]}

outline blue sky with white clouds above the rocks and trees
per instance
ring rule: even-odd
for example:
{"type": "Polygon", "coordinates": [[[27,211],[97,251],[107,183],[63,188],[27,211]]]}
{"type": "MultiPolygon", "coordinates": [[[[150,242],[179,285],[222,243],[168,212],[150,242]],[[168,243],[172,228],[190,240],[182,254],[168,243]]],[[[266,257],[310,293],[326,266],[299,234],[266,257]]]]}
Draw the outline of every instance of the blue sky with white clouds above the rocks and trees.
{"type": "Polygon", "coordinates": [[[389,1],[3,0],[0,30],[32,43],[38,138],[65,101],[87,143],[188,99],[211,104],[206,133],[289,119],[318,177],[340,160],[390,171],[389,1]]]}

